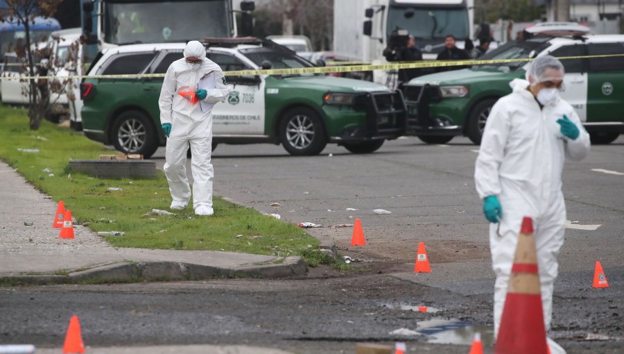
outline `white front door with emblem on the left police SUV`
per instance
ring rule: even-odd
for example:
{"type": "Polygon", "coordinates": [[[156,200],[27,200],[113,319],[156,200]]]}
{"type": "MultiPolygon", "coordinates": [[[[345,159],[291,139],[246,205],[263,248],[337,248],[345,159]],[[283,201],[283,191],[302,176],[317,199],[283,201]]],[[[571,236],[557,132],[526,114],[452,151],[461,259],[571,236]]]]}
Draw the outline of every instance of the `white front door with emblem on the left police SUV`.
{"type": "MultiPolygon", "coordinates": [[[[223,71],[251,69],[229,53],[209,52],[223,71]]],[[[225,102],[212,110],[214,135],[264,135],[264,81],[259,76],[225,76],[232,85],[225,102]]]]}

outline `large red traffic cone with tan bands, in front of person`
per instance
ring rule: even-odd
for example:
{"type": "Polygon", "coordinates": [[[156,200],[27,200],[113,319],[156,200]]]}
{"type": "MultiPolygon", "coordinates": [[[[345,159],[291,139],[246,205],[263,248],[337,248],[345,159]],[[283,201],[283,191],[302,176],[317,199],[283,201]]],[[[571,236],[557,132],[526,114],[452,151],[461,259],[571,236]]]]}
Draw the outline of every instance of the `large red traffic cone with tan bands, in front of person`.
{"type": "Polygon", "coordinates": [[[526,353],[548,353],[530,217],[522,220],[499,336],[494,345],[494,354],[526,353]]]}

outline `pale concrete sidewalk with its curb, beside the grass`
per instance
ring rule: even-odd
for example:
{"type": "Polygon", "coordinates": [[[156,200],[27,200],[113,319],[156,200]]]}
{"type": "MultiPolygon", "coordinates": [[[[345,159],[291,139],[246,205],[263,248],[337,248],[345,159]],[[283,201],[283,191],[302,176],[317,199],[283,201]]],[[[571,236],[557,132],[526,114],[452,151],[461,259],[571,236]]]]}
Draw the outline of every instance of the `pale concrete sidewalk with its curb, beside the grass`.
{"type": "Polygon", "coordinates": [[[0,162],[0,201],[0,283],[283,278],[307,271],[299,256],[114,248],[80,225],[74,226],[75,239],[60,239],[59,229],[52,228],[55,201],[4,162],[0,162]]]}

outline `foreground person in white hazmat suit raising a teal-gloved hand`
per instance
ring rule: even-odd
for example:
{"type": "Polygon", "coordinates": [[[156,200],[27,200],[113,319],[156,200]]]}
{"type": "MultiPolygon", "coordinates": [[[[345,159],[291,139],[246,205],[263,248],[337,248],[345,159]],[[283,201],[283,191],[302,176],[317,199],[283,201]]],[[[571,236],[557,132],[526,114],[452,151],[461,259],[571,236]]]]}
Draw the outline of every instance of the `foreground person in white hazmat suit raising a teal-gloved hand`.
{"type": "MultiPolygon", "coordinates": [[[[552,56],[532,61],[526,80],[514,79],[511,94],[487,118],[474,179],[489,224],[494,285],[494,334],[498,335],[523,217],[535,230],[546,330],[553,313],[557,255],[564,242],[566,208],[562,170],[566,157],[589,153],[589,134],[574,108],[559,96],[562,63],[552,56]]],[[[548,339],[551,353],[565,353],[548,339]]]]}

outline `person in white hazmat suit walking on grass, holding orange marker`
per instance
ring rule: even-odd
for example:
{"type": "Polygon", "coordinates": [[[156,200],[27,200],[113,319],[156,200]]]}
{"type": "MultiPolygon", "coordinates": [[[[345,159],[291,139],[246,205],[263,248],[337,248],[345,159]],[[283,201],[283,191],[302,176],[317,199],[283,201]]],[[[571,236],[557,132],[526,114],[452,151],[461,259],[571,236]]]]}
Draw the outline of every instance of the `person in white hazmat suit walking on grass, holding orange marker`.
{"type": "Polygon", "coordinates": [[[198,41],[187,43],[184,58],[171,63],[165,74],[158,105],[160,124],[167,135],[164,173],[173,201],[171,209],[182,210],[191,199],[187,179],[187,149],[191,146],[193,208],[198,215],[212,215],[212,106],[223,101],[230,88],[221,68],[206,58],[206,49],[198,41]],[[208,76],[214,83],[200,89],[200,80],[208,76]],[[179,92],[194,92],[204,103],[193,102],[179,92]]]}

